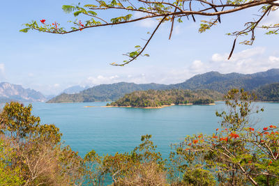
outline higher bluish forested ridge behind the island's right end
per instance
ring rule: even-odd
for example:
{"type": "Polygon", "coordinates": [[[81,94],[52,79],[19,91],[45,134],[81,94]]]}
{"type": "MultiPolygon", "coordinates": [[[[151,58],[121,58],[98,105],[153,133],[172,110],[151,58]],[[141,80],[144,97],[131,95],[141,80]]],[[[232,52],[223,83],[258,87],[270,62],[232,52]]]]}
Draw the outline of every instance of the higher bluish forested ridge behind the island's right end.
{"type": "Polygon", "coordinates": [[[181,84],[172,84],[169,88],[181,89],[211,89],[220,93],[227,93],[232,88],[244,88],[246,91],[279,82],[279,69],[271,69],[266,72],[257,72],[250,75],[239,73],[220,74],[219,72],[206,72],[195,75],[181,84]]]}

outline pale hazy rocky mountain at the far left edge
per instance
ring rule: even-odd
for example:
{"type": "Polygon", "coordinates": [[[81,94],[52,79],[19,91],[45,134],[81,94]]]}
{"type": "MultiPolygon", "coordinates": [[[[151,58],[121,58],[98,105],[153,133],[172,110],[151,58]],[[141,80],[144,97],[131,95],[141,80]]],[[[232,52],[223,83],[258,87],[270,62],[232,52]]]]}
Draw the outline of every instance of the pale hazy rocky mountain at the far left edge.
{"type": "Polygon", "coordinates": [[[46,98],[42,93],[30,88],[23,88],[21,85],[7,82],[0,83],[0,102],[9,102],[11,100],[43,102],[46,98]]]}

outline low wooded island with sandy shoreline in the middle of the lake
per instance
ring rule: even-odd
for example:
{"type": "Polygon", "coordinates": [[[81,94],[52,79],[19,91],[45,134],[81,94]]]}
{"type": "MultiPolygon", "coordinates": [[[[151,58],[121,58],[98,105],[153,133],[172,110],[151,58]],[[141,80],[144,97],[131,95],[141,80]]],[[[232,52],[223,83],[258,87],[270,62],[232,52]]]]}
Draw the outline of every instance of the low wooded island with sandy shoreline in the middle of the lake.
{"type": "Polygon", "coordinates": [[[149,90],[128,93],[107,106],[161,107],[170,104],[210,104],[222,98],[221,93],[211,90],[149,90]]]}

